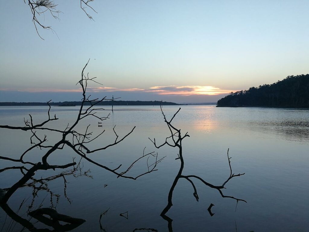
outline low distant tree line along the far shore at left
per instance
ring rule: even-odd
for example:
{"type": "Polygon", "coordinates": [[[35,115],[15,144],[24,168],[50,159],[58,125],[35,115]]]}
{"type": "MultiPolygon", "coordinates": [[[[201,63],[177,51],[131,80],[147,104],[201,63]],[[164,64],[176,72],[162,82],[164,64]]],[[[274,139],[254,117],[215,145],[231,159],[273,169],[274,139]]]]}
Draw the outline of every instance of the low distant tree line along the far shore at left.
{"type": "MultiPolygon", "coordinates": [[[[82,101],[49,102],[49,105],[56,105],[56,106],[75,106],[81,104],[82,101]]],[[[22,106],[22,105],[46,106],[46,102],[0,102],[0,106],[22,106]]],[[[90,105],[90,103],[85,102],[85,105],[90,105]]],[[[167,101],[102,101],[99,102],[97,105],[179,105],[179,104],[167,101]]]]}

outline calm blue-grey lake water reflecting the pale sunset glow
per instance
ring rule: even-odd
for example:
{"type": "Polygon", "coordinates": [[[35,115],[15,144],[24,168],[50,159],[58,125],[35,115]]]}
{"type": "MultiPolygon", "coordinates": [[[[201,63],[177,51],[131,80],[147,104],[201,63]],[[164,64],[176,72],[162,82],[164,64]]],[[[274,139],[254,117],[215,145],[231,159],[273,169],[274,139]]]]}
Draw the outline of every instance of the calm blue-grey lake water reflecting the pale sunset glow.
{"type": "MultiPolygon", "coordinates": [[[[164,106],[167,118],[179,106],[164,106]]],[[[31,114],[34,122],[47,117],[48,107],[0,107],[0,124],[24,126],[23,118],[31,114]]],[[[99,115],[111,112],[109,106],[99,115]]],[[[65,129],[72,122],[78,107],[52,107],[51,114],[59,120],[47,126],[65,129]]],[[[216,189],[192,179],[199,195],[197,202],[192,185],[180,179],[173,193],[173,206],[167,216],[173,219],[173,231],[309,231],[309,110],[279,108],[216,108],[214,106],[181,106],[173,120],[183,135],[185,175],[198,175],[214,185],[221,185],[230,175],[227,149],[231,158],[233,173],[245,175],[232,178],[223,189],[225,195],[244,199],[245,202],[222,198],[216,189]],[[207,208],[214,204],[211,217],[207,208]]],[[[87,125],[93,136],[104,129],[99,139],[89,144],[95,149],[115,140],[112,128],[119,136],[125,135],[134,126],[136,129],[120,144],[104,151],[89,154],[88,157],[112,169],[120,164],[129,166],[145,152],[158,153],[164,160],[158,164],[158,171],[146,174],[137,180],[116,178],[99,166],[81,160],[74,173],[66,172],[64,178],[50,178],[43,189],[35,191],[32,185],[19,188],[9,199],[8,205],[18,215],[29,219],[28,210],[54,207],[58,213],[87,220],[72,231],[133,231],[152,228],[168,231],[167,221],[160,213],[167,204],[167,195],[179,170],[178,150],[171,147],[156,149],[148,139],[156,138],[163,143],[169,135],[159,106],[116,106],[110,119],[98,127],[96,118],[88,118],[78,130],[85,131],[87,125]],[[66,188],[65,188],[66,185],[66,188]],[[106,186],[107,185],[107,186],[106,186]],[[65,190],[65,191],[64,191],[65,190]],[[101,218],[100,214],[108,209],[101,218]],[[121,213],[128,212],[128,219],[121,213]]],[[[37,132],[38,135],[42,131],[37,132]]],[[[56,133],[46,133],[48,142],[57,141],[56,133]]],[[[19,158],[30,147],[30,132],[1,129],[1,156],[19,158]]],[[[46,150],[45,150],[46,152],[46,150]]],[[[44,150],[34,149],[25,160],[39,162],[44,150]]],[[[49,157],[49,164],[63,165],[76,157],[70,148],[64,147],[49,157]]],[[[150,161],[148,161],[150,162],[150,161]]],[[[20,166],[19,163],[0,160],[0,169],[20,166]]],[[[27,165],[26,165],[27,167],[27,165]]],[[[29,166],[28,166],[29,167],[29,166]]],[[[125,170],[123,168],[122,170],[125,170]]],[[[67,170],[70,170],[68,168],[67,170]]],[[[48,178],[65,170],[36,172],[34,178],[48,178]]],[[[128,172],[138,175],[147,171],[146,159],[138,161],[128,172]]],[[[0,173],[0,188],[11,187],[22,174],[20,170],[6,170],[0,173]]],[[[34,183],[39,187],[40,182],[34,183]]],[[[127,216],[127,214],[124,214],[127,216]]],[[[31,219],[35,223],[35,219],[31,219]]],[[[19,231],[22,226],[6,217],[0,209],[2,231],[19,231]],[[12,223],[11,230],[8,229],[12,223]],[[15,226],[14,226],[15,225],[15,226]],[[13,228],[14,227],[14,228],[13,228]],[[12,229],[13,228],[13,229],[12,229]]],[[[35,223],[36,228],[51,228],[35,223]]]]}

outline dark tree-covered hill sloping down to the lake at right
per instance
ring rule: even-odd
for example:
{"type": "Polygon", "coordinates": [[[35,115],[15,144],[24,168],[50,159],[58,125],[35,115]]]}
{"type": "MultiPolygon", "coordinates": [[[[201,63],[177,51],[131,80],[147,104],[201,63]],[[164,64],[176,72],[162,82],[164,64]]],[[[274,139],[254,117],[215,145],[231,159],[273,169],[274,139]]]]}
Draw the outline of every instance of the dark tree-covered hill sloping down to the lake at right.
{"type": "Polygon", "coordinates": [[[288,76],[273,84],[231,92],[217,107],[267,106],[309,108],[309,74],[288,76]]]}

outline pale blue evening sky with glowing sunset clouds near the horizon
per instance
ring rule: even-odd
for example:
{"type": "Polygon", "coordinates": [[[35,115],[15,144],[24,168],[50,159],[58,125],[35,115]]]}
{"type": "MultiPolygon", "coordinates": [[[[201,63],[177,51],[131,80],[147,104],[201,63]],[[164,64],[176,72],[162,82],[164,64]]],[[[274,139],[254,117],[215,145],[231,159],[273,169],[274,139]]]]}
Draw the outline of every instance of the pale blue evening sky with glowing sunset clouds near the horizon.
{"type": "Polygon", "coordinates": [[[54,1],[59,19],[0,2],[0,101],[216,102],[229,92],[309,73],[309,1],[54,1]]]}

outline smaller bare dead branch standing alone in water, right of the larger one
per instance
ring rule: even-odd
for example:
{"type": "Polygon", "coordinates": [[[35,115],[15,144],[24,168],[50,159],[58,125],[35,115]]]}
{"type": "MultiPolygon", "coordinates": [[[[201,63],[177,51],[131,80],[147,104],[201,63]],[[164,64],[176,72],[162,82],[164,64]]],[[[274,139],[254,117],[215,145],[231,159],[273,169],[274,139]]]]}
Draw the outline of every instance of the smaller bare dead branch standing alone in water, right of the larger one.
{"type": "MultiPolygon", "coordinates": [[[[202,183],[204,183],[206,186],[208,187],[211,187],[211,188],[214,188],[214,189],[217,189],[220,193],[220,195],[222,197],[226,197],[226,198],[232,198],[232,199],[235,199],[238,203],[238,201],[244,201],[246,202],[245,200],[242,200],[242,199],[239,199],[239,198],[235,198],[233,196],[227,196],[227,195],[224,195],[222,190],[225,189],[225,185],[226,183],[228,183],[233,177],[237,177],[237,176],[241,176],[241,175],[244,175],[243,174],[232,174],[232,168],[231,168],[231,158],[229,157],[229,150],[227,150],[227,158],[228,158],[228,161],[229,161],[229,166],[230,166],[230,176],[226,179],[226,181],[224,181],[222,183],[222,185],[220,186],[216,186],[216,185],[213,185],[209,182],[206,182],[203,178],[199,177],[199,176],[196,176],[196,175],[183,175],[182,172],[183,172],[183,169],[184,169],[184,158],[183,158],[183,153],[182,153],[182,140],[186,137],[190,137],[188,135],[188,132],[185,133],[185,135],[181,135],[181,132],[180,132],[180,129],[176,128],[173,126],[173,124],[171,123],[172,120],[175,118],[176,114],[178,114],[178,112],[180,111],[180,108],[179,110],[172,116],[171,120],[167,120],[165,114],[163,113],[163,110],[162,110],[162,106],[160,106],[161,108],[161,112],[163,114],[163,118],[164,118],[164,122],[167,124],[167,127],[170,131],[170,136],[167,137],[165,139],[165,142],[163,144],[160,144],[160,145],[157,145],[156,143],[156,140],[151,140],[151,142],[155,145],[156,148],[160,148],[164,145],[168,145],[168,146],[171,146],[171,147],[174,147],[174,148],[178,148],[178,157],[175,159],[175,160],[180,160],[180,169],[172,183],[172,186],[171,186],[171,189],[168,193],[168,197],[167,197],[167,205],[166,207],[163,209],[162,213],[160,214],[161,217],[163,217],[163,219],[165,219],[167,222],[168,222],[168,230],[171,232],[173,229],[172,229],[172,219],[170,217],[167,217],[166,213],[168,212],[168,210],[171,208],[171,206],[173,205],[172,204],[172,196],[173,196],[173,191],[179,181],[180,178],[184,178],[186,180],[188,180],[188,182],[192,185],[193,187],[193,196],[195,197],[195,199],[198,201],[199,200],[199,197],[198,197],[198,194],[197,194],[197,189],[194,185],[194,182],[192,179],[198,179],[200,180],[202,183]]],[[[211,207],[210,207],[211,208],[211,207]]]]}

